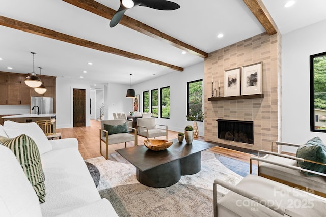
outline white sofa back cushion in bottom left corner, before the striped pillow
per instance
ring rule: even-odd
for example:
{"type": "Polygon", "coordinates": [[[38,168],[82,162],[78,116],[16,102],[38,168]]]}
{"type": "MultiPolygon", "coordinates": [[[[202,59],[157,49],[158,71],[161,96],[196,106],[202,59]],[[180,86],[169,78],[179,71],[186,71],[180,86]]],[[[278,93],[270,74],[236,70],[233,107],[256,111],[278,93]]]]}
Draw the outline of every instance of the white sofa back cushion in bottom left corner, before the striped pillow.
{"type": "Polygon", "coordinates": [[[13,152],[0,145],[1,216],[42,216],[39,199],[13,152]]]}

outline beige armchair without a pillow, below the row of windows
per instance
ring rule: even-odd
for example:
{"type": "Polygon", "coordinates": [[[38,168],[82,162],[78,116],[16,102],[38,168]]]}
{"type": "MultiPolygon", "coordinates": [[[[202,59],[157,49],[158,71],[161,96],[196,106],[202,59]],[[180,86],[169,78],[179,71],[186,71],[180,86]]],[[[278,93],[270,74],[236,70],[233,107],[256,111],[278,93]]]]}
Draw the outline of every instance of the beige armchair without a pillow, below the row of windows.
{"type": "Polygon", "coordinates": [[[155,138],[158,136],[166,136],[168,139],[168,126],[164,126],[165,129],[156,128],[155,118],[138,118],[137,119],[137,134],[143,137],[155,138]]]}

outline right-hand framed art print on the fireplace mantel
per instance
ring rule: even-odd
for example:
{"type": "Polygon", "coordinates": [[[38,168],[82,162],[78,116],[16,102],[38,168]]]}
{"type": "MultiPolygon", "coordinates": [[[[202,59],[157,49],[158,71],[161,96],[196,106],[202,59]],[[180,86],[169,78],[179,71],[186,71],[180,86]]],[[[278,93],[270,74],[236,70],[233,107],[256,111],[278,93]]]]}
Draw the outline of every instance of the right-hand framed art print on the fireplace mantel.
{"type": "Polygon", "coordinates": [[[261,94],[262,62],[242,67],[241,95],[261,94]]]}

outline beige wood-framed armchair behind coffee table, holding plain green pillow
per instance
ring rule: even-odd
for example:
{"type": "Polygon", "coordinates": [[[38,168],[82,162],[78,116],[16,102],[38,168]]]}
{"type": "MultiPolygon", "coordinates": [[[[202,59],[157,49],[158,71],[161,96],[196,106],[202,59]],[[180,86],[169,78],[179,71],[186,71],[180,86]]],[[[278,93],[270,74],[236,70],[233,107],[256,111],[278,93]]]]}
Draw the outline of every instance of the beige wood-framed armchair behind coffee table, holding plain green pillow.
{"type": "MultiPolygon", "coordinates": [[[[102,154],[105,159],[108,159],[108,146],[113,145],[113,144],[118,144],[118,143],[123,143],[124,142],[124,147],[127,147],[127,142],[134,141],[134,146],[137,146],[137,130],[135,128],[132,128],[135,133],[134,135],[130,133],[115,133],[115,134],[110,134],[107,130],[104,129],[104,124],[105,125],[112,125],[112,126],[117,126],[117,125],[122,125],[125,123],[125,119],[119,119],[119,120],[101,120],[101,129],[100,129],[100,153],[102,154],[102,142],[106,144],[106,156],[102,154]]],[[[128,127],[130,128],[130,127],[128,127]]]]}

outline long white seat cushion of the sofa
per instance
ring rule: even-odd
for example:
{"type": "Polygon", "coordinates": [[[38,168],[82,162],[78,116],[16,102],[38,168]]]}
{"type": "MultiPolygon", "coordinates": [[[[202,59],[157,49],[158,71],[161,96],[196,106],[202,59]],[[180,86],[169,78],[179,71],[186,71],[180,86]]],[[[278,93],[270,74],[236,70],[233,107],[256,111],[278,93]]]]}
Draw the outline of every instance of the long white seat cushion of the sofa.
{"type": "Polygon", "coordinates": [[[101,199],[78,147],[49,151],[41,161],[46,186],[43,216],[63,214],[101,199]]]}

